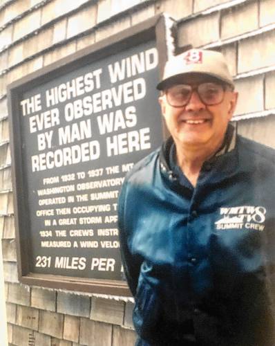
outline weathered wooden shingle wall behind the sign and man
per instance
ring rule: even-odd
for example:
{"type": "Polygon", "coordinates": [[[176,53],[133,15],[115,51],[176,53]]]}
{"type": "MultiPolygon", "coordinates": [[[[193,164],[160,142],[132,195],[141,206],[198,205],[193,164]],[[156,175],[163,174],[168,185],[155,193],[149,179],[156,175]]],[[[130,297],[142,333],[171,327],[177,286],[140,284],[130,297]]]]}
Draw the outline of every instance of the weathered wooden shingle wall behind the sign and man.
{"type": "Polygon", "coordinates": [[[6,86],[160,12],[178,21],[179,46],[225,53],[240,92],[236,115],[249,118],[239,120],[240,133],[275,147],[275,0],[0,1],[0,235],[10,345],[134,344],[131,302],[18,281],[6,86]]]}

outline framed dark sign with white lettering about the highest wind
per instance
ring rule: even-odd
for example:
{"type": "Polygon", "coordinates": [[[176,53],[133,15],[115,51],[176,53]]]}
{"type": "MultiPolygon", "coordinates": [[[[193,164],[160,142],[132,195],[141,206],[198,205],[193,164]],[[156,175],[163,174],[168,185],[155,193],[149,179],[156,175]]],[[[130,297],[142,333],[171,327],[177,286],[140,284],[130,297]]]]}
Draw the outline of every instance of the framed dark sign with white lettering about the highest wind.
{"type": "Polygon", "coordinates": [[[11,84],[22,282],[126,293],[117,197],[163,138],[156,23],[11,84]]]}

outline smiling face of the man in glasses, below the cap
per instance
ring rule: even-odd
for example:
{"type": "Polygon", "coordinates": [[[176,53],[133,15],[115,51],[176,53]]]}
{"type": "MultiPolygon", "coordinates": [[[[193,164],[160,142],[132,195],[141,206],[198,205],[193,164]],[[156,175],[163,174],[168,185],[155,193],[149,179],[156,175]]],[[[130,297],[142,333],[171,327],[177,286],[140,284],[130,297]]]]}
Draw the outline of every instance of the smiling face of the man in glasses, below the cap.
{"type": "MultiPolygon", "coordinates": [[[[191,74],[180,83],[193,87],[201,83],[213,82],[207,75],[191,74]]],[[[237,93],[225,87],[222,102],[205,105],[197,91],[193,91],[189,102],[184,107],[173,107],[167,102],[167,93],[160,96],[162,114],[176,145],[189,147],[218,147],[222,144],[225,131],[236,107],[237,93]]]]}

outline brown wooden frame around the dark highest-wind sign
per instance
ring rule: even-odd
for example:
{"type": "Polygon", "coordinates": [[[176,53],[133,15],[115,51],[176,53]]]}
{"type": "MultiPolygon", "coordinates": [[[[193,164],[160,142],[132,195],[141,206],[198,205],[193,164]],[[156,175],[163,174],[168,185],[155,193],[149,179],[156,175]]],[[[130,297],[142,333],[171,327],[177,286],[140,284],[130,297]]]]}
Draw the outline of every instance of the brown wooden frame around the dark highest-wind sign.
{"type": "MultiPolygon", "coordinates": [[[[53,289],[68,289],[86,291],[91,293],[104,293],[111,295],[131,295],[126,282],[117,280],[98,280],[83,277],[70,277],[63,275],[37,274],[30,271],[30,258],[28,257],[28,208],[24,188],[23,168],[21,165],[21,128],[20,95],[30,88],[41,83],[53,80],[56,75],[74,71],[88,62],[100,60],[113,52],[124,51],[129,47],[149,40],[155,40],[159,54],[159,73],[162,73],[164,62],[167,60],[166,27],[163,15],[157,15],[141,24],[133,26],[122,33],[118,33],[93,44],[87,48],[69,55],[68,57],[46,66],[43,69],[21,78],[8,86],[8,108],[10,122],[10,145],[12,153],[12,184],[15,203],[15,228],[17,238],[17,259],[19,280],[23,284],[45,286],[53,289]]],[[[155,107],[158,107],[155,104],[155,107]]],[[[165,129],[163,129],[164,136],[165,129]]]]}

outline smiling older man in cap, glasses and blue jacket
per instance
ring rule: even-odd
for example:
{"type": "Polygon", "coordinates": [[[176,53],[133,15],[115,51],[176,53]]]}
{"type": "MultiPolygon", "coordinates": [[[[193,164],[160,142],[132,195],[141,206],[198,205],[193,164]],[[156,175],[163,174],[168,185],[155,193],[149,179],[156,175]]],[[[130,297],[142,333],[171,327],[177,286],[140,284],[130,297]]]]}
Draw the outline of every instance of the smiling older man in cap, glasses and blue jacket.
{"type": "Polygon", "coordinates": [[[137,345],[274,346],[274,150],[229,124],[238,94],[221,53],[173,57],[158,89],[171,137],[119,203],[137,345]]]}

